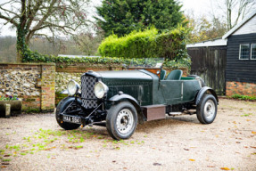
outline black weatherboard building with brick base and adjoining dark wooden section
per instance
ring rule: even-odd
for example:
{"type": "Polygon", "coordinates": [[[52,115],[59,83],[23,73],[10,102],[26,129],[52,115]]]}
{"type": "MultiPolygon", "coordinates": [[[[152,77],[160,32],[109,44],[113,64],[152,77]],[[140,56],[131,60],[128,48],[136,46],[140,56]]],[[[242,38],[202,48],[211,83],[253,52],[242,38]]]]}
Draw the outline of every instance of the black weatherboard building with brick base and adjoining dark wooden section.
{"type": "Polygon", "coordinates": [[[192,74],[218,94],[256,96],[256,11],[222,39],[187,45],[192,74]]]}

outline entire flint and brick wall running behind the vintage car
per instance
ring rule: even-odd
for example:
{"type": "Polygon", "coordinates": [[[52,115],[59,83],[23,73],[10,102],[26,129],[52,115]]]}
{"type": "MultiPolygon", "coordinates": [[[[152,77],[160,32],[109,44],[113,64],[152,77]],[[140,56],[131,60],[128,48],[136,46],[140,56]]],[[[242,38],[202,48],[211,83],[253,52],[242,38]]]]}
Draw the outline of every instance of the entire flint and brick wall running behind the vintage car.
{"type": "MultiPolygon", "coordinates": [[[[0,95],[17,95],[26,112],[52,112],[66,95],[70,79],[80,83],[87,70],[122,70],[120,65],[69,65],[54,63],[0,63],[0,95]]],[[[169,73],[172,69],[164,68],[169,73]]],[[[184,76],[187,69],[182,69],[184,76]]]]}

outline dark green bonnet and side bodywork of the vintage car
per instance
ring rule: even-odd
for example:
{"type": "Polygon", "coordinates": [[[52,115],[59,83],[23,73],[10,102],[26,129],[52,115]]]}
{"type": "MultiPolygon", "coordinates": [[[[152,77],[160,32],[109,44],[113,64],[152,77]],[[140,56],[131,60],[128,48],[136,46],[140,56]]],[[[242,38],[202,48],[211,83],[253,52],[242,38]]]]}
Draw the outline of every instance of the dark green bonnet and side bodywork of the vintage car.
{"type": "Polygon", "coordinates": [[[194,101],[195,95],[201,89],[194,78],[159,80],[156,74],[145,69],[100,71],[97,75],[109,87],[107,99],[121,91],[134,97],[141,106],[194,101]]]}

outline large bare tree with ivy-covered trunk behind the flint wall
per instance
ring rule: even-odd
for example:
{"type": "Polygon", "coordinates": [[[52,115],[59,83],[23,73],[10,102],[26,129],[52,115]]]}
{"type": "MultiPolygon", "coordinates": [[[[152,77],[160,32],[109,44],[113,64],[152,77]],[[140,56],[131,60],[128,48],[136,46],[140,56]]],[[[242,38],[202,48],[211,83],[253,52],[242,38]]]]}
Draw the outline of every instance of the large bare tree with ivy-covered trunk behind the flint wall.
{"type": "MultiPolygon", "coordinates": [[[[1,0],[1,2],[3,2],[1,0]]],[[[17,29],[17,61],[21,61],[33,36],[50,39],[58,34],[74,34],[87,26],[89,0],[4,0],[0,20],[17,29]]]]}

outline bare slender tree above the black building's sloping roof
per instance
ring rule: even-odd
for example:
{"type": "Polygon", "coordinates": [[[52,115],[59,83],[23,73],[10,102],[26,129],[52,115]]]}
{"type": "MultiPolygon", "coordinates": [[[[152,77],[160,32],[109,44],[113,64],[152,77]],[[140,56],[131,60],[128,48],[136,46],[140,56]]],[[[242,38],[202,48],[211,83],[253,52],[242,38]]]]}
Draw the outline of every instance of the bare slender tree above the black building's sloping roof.
{"type": "Polygon", "coordinates": [[[218,8],[224,12],[227,29],[233,28],[239,20],[243,20],[248,13],[256,10],[255,0],[219,0],[213,4],[217,4],[218,8]]]}

